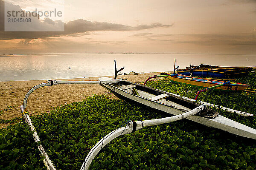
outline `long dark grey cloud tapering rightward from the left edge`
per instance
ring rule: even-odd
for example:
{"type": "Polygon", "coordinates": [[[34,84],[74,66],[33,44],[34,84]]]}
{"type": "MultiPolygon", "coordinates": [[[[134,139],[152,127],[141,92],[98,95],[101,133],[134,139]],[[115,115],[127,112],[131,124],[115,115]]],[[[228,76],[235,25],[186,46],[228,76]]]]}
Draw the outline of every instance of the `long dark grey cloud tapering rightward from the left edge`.
{"type": "MultiPolygon", "coordinates": [[[[20,6],[13,4],[8,4],[16,10],[22,10],[20,6]]],[[[27,26],[27,30],[34,28],[46,28],[47,30],[54,30],[57,26],[64,24],[64,31],[4,31],[4,3],[0,0],[0,40],[12,40],[12,39],[36,39],[36,38],[46,38],[46,37],[61,37],[61,36],[73,36],[78,37],[86,32],[91,31],[138,31],[151,28],[160,27],[172,27],[171,25],[164,25],[161,23],[152,23],[150,25],[137,25],[137,26],[127,26],[117,23],[107,23],[107,22],[91,22],[84,19],[77,19],[63,23],[60,20],[53,21],[49,18],[44,18],[44,20],[35,20],[33,25],[27,26]]]]}

